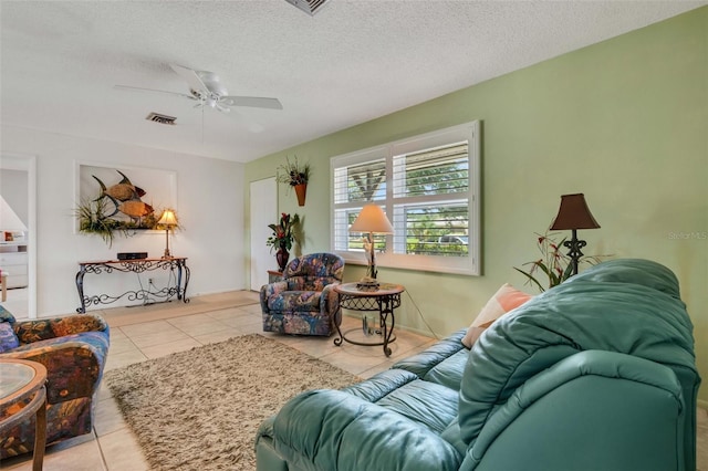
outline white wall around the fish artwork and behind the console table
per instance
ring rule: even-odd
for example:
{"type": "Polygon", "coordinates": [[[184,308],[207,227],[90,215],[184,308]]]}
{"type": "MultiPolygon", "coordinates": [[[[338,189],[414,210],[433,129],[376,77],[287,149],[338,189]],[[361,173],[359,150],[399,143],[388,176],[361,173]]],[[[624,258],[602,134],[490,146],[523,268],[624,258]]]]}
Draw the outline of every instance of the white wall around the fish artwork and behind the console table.
{"type": "MultiPolygon", "coordinates": [[[[246,287],[241,164],[12,126],[2,126],[1,133],[0,151],[37,156],[40,317],[69,314],[79,306],[79,261],[110,260],[117,252],[137,251],[160,257],[165,250],[164,232],[116,237],[112,248],[97,236],[77,233],[73,218],[76,163],[176,171],[176,207],[184,230],[170,238],[170,251],[189,258],[188,296],[246,287]]],[[[160,276],[166,275],[155,273],[156,283],[160,276]]],[[[136,282],[131,274],[87,274],[84,286],[86,294],[119,294],[134,289],[136,282]]],[[[124,304],[131,303],[119,301],[104,307],[124,304]]]]}

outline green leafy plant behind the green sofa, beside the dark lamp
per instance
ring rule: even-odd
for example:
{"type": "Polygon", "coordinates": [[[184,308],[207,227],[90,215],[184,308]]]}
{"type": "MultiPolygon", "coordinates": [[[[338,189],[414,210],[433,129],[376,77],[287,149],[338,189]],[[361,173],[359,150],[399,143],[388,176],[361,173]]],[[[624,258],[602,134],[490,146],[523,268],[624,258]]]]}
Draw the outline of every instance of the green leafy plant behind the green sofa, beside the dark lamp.
{"type": "MultiPolygon", "coordinates": [[[[565,280],[573,275],[573,265],[571,258],[561,252],[563,249],[563,242],[566,238],[556,242],[555,233],[540,234],[537,232],[537,247],[541,252],[541,258],[531,262],[523,263],[521,266],[528,266],[527,270],[514,266],[513,269],[527,278],[524,284],[532,284],[537,286],[541,292],[545,291],[544,285],[548,283],[548,289],[558,286],[565,280]]],[[[580,263],[587,263],[595,265],[601,262],[602,255],[583,257],[580,263]]]]}

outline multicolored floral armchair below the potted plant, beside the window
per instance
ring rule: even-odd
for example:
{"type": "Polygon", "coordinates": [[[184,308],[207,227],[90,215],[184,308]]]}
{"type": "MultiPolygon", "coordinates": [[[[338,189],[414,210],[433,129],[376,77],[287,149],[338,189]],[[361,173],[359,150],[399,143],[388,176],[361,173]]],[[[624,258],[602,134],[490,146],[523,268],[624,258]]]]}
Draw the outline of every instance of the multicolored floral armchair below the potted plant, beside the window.
{"type": "Polygon", "coordinates": [[[339,323],[344,259],[333,253],[311,253],[291,260],[283,280],[261,286],[263,331],[330,336],[339,323]]]}

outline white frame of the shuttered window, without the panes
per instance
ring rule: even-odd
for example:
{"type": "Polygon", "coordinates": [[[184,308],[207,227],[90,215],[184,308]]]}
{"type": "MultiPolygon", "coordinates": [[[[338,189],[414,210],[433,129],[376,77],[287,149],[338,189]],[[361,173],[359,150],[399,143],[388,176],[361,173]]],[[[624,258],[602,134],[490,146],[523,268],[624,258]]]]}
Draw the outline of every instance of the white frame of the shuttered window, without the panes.
{"type": "MultiPolygon", "coordinates": [[[[394,237],[388,234],[385,237],[385,251],[376,252],[376,264],[381,268],[393,268],[404,270],[415,270],[425,272],[451,273],[478,276],[481,275],[481,198],[480,198],[480,180],[481,180],[481,136],[480,122],[473,121],[444,129],[434,130],[404,139],[398,139],[384,145],[374,146],[353,153],[334,156],[330,159],[330,250],[337,253],[346,263],[366,265],[366,257],[363,250],[337,250],[335,247],[336,234],[344,229],[337,226],[336,211],[346,210],[347,208],[358,209],[366,202],[375,202],[384,208],[388,219],[394,223],[394,206],[400,206],[402,200],[407,202],[416,202],[420,200],[426,202],[426,197],[408,197],[396,198],[394,196],[394,158],[403,154],[412,154],[415,151],[426,150],[439,146],[451,145],[467,140],[468,144],[468,191],[467,193],[458,193],[455,199],[467,199],[468,207],[468,254],[467,257],[440,257],[424,254],[406,254],[394,253],[394,237]],[[356,164],[385,159],[386,167],[386,192],[384,200],[373,201],[336,201],[336,184],[335,172],[343,167],[350,167],[356,164]]],[[[429,199],[430,202],[439,198],[438,196],[429,199]]],[[[348,231],[347,231],[348,233],[348,231]]],[[[346,237],[340,234],[340,237],[346,237]]],[[[399,242],[398,242],[399,243],[399,242]]]]}

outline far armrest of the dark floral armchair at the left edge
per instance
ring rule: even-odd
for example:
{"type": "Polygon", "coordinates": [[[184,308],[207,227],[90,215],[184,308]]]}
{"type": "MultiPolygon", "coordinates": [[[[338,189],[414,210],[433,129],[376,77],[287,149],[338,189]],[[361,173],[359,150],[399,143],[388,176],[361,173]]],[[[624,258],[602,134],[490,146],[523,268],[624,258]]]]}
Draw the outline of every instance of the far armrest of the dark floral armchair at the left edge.
{"type": "Polygon", "coordinates": [[[14,323],[14,333],[21,344],[81,334],[82,332],[105,332],[107,335],[108,324],[102,317],[92,314],[18,321],[14,323]]]}

